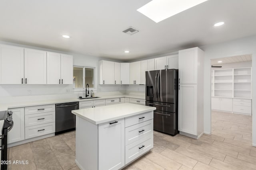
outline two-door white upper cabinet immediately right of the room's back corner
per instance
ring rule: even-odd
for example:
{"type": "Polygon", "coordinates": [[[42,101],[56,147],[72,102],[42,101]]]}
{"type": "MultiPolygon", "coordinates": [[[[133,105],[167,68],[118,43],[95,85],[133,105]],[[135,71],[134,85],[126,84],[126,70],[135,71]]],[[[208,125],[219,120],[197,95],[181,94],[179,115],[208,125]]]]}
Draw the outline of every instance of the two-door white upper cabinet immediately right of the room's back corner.
{"type": "Polygon", "coordinates": [[[130,84],[141,84],[141,61],[130,63],[130,84]]]}

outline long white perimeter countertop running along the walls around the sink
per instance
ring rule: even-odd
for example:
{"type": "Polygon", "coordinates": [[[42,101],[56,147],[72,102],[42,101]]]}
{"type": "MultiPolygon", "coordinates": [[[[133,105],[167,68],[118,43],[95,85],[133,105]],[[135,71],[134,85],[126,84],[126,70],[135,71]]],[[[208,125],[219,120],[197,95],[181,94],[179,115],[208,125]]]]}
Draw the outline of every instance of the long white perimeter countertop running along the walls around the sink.
{"type": "Polygon", "coordinates": [[[66,103],[66,102],[82,102],[87,100],[100,100],[100,99],[109,99],[109,98],[137,98],[145,100],[145,96],[135,96],[135,95],[109,95],[109,96],[98,96],[99,98],[88,98],[88,99],[78,99],[78,98],[65,98],[65,99],[49,99],[49,100],[38,100],[38,101],[26,101],[26,102],[9,102],[5,104],[0,104],[0,111],[4,111],[11,108],[18,107],[29,107],[29,106],[39,106],[47,104],[57,104],[57,103],[66,103]]]}

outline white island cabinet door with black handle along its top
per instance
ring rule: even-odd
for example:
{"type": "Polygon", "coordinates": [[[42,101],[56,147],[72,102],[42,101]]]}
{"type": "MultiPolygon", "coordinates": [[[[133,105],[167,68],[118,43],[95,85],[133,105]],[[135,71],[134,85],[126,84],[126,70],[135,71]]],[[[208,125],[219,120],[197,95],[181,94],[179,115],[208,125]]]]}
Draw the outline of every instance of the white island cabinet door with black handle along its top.
{"type": "Polygon", "coordinates": [[[119,169],[124,166],[124,118],[116,121],[98,125],[98,169],[119,169]]]}

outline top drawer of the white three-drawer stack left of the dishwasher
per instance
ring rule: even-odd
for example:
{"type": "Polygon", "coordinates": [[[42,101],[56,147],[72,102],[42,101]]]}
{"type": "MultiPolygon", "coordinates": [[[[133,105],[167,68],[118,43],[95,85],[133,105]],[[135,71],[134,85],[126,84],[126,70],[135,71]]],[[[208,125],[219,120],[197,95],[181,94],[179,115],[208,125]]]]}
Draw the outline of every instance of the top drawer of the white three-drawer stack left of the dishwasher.
{"type": "Polygon", "coordinates": [[[25,115],[55,111],[55,104],[25,107],[25,115]]]}

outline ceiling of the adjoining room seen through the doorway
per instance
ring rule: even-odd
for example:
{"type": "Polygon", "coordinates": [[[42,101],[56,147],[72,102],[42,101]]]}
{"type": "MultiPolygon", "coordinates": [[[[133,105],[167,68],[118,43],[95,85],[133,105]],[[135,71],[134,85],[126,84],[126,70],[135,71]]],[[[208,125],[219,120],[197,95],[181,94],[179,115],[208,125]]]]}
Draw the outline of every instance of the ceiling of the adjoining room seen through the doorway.
{"type": "Polygon", "coordinates": [[[246,62],[246,61],[252,61],[252,55],[237,55],[233,57],[225,57],[225,58],[219,58],[219,59],[212,59],[211,64],[228,64],[228,63],[239,63],[239,62],[246,62]],[[222,63],[218,63],[218,61],[222,61],[222,63]]]}

